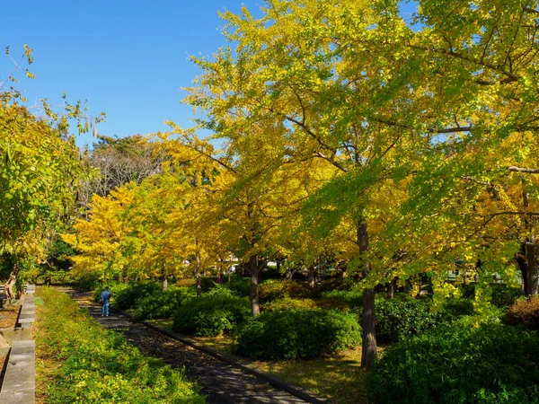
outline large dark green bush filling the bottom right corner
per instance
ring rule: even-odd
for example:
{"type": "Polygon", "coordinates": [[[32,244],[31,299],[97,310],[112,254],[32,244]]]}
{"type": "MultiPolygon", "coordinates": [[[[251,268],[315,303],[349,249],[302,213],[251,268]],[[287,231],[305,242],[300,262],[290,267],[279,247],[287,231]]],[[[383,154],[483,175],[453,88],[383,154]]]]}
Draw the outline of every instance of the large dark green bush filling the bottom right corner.
{"type": "Polygon", "coordinates": [[[388,347],[367,377],[375,403],[536,403],[539,338],[503,324],[444,326],[388,347]]]}

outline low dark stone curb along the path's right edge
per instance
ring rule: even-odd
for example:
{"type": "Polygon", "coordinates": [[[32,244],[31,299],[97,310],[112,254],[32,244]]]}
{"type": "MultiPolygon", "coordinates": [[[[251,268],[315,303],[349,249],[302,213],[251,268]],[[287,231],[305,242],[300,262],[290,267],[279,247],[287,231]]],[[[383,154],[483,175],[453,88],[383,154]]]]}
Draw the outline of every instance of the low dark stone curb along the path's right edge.
{"type": "Polygon", "coordinates": [[[221,354],[218,354],[217,352],[215,352],[212,349],[209,349],[208,347],[202,347],[199,344],[195,343],[194,341],[190,340],[189,338],[181,337],[180,335],[178,335],[178,334],[176,334],[176,333],[174,333],[174,332],[172,332],[172,331],[170,331],[168,329],[163,329],[161,327],[157,327],[154,324],[150,324],[147,321],[137,320],[133,315],[129,314],[128,312],[122,312],[121,310],[114,309],[112,307],[110,308],[110,310],[113,310],[114,312],[119,312],[119,313],[125,315],[126,317],[128,317],[129,319],[131,319],[131,321],[136,321],[136,322],[138,322],[140,324],[144,324],[146,327],[148,327],[150,329],[155,329],[155,331],[157,331],[157,332],[165,334],[165,335],[169,336],[170,338],[176,339],[177,341],[180,341],[182,344],[193,347],[193,348],[195,348],[195,349],[197,349],[197,350],[199,350],[201,352],[204,352],[205,354],[207,354],[209,356],[213,356],[216,359],[218,359],[218,360],[220,360],[222,362],[225,362],[226,364],[232,364],[233,366],[242,369],[245,373],[251,373],[254,376],[257,376],[258,378],[263,380],[264,382],[268,382],[268,383],[270,383],[270,385],[272,385],[274,387],[277,387],[278,389],[287,391],[290,394],[295,395],[297,398],[299,398],[301,400],[305,400],[305,401],[313,403],[313,404],[331,404],[330,400],[324,399],[324,398],[321,398],[321,397],[316,397],[312,391],[308,391],[308,390],[303,389],[301,387],[293,386],[293,385],[289,384],[288,382],[286,382],[286,381],[284,381],[284,380],[282,380],[282,379],[280,379],[280,378],[278,378],[276,376],[273,376],[272,374],[262,373],[262,372],[254,369],[251,366],[248,366],[246,364],[240,364],[240,363],[234,361],[234,359],[232,359],[232,358],[230,358],[228,356],[223,356],[221,354]]]}

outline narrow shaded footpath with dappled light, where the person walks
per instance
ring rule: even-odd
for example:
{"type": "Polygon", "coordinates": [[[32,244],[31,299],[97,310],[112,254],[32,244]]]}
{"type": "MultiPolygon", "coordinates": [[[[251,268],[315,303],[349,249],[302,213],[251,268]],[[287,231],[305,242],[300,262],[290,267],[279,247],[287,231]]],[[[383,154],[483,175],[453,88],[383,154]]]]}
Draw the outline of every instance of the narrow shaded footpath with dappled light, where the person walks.
{"type": "Polygon", "coordinates": [[[157,357],[174,368],[184,368],[190,381],[198,382],[208,404],[238,403],[305,403],[287,391],[278,390],[256,376],[244,373],[231,364],[188,347],[173,338],[131,321],[128,316],[110,311],[102,317],[101,306],[93,303],[89,294],[58,288],[69,294],[80,307],[87,308],[105,329],[122,332],[129,344],[139,347],[146,356],[157,357]]]}

